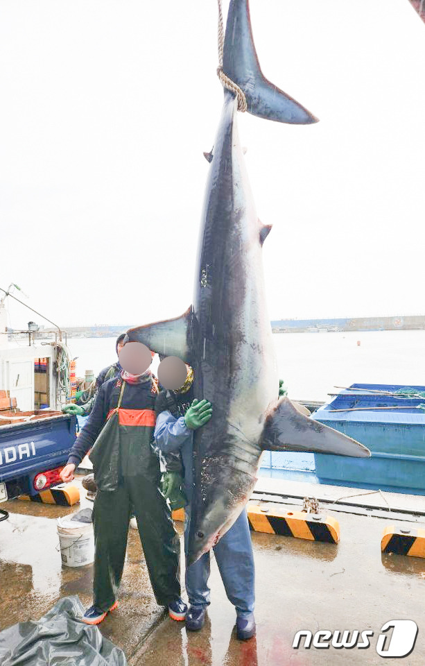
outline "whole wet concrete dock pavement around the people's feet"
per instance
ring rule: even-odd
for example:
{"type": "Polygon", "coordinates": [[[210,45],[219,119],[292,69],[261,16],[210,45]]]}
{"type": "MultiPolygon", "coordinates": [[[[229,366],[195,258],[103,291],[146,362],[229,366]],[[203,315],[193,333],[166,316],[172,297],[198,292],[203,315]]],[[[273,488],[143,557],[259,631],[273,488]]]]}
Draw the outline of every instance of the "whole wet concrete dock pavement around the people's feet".
{"type": "MultiPolygon", "coordinates": [[[[63,596],[78,595],[89,605],[92,565],[62,567],[57,550],[55,518],[80,507],[17,500],[1,506],[10,511],[10,518],[0,522],[0,629],[38,619],[63,596]]],[[[132,529],[120,606],[99,628],[124,650],[130,666],[346,666],[393,661],[376,654],[381,627],[390,620],[413,620],[419,627],[415,648],[397,663],[423,666],[425,559],[381,554],[388,520],[326,513],[340,522],[338,545],[252,533],[257,638],[236,640],[234,608],[214,561],[204,629],[186,632],[184,623],[164,616],[153,599],[139,536],[132,529]],[[304,649],[304,642],[294,649],[295,633],[302,629],[313,634],[319,629],[369,629],[374,635],[368,649],[304,649]]]]}

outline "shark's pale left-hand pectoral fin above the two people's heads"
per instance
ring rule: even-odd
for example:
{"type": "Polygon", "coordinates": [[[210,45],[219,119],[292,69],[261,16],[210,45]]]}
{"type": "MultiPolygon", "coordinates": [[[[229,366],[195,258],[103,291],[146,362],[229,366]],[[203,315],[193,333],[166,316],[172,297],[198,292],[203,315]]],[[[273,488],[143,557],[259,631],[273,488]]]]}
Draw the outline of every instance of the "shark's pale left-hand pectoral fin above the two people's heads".
{"type": "Polygon", "coordinates": [[[125,336],[125,342],[141,342],[157,354],[177,356],[182,361],[190,363],[192,313],[191,306],[180,317],[130,328],[125,336]]]}

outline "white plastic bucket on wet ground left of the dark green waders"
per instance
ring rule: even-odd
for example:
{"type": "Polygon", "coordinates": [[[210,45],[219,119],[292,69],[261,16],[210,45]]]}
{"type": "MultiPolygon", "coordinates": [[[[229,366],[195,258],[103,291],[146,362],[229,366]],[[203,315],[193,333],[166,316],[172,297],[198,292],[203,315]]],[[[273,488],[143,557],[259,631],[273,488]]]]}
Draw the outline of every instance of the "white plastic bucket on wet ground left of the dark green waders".
{"type": "Polygon", "coordinates": [[[94,561],[94,533],[91,522],[76,522],[69,516],[58,518],[58,536],[62,564],[66,567],[83,567],[94,561]]]}

